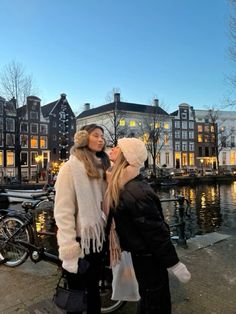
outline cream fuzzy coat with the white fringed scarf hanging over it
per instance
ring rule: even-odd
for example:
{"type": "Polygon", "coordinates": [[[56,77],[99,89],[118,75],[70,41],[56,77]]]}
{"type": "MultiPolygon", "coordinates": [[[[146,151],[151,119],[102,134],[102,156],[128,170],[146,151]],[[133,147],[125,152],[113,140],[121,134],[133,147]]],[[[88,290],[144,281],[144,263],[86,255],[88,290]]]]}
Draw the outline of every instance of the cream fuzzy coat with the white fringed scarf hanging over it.
{"type": "Polygon", "coordinates": [[[58,227],[59,258],[70,260],[101,251],[104,241],[103,178],[90,179],[81,161],[71,155],[56,181],[54,216],[58,227]],[[81,238],[80,244],[76,237],[81,238]]]}

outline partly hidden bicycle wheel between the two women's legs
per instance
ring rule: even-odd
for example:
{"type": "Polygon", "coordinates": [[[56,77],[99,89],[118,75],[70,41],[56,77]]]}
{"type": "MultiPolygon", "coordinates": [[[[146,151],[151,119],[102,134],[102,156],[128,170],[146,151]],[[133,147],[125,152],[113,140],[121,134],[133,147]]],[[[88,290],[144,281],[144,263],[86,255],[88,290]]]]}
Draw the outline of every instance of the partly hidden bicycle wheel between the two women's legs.
{"type": "Polygon", "coordinates": [[[105,267],[103,270],[103,278],[99,282],[100,296],[101,296],[101,312],[112,313],[120,309],[125,301],[113,301],[112,295],[112,271],[109,267],[105,267]]]}

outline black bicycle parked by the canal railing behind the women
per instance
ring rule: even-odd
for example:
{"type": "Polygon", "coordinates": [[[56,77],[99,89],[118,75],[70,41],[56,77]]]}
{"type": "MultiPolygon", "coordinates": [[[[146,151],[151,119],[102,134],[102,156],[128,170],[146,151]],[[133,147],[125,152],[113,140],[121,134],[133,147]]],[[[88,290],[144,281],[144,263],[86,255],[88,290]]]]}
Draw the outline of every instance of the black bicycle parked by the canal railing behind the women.
{"type": "MultiPolygon", "coordinates": [[[[9,210],[0,218],[0,252],[6,257],[6,266],[17,267],[23,264],[29,256],[34,263],[44,260],[61,266],[58,252],[55,250],[54,197],[48,192],[42,193],[41,197],[44,199],[23,202],[24,212],[9,210]],[[42,212],[47,215],[47,218],[43,217],[42,212]],[[43,246],[45,237],[50,237],[52,240],[48,247],[43,246]],[[52,248],[54,248],[53,252],[52,248]]],[[[112,313],[126,303],[111,300],[112,271],[108,266],[106,255],[103,256],[99,287],[102,313],[112,313]]]]}

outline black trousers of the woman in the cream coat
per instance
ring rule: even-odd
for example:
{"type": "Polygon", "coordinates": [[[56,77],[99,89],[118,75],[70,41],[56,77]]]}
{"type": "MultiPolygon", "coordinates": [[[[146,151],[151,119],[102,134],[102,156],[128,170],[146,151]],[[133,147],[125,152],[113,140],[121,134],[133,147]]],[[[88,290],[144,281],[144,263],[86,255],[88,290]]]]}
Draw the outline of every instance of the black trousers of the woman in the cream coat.
{"type": "MultiPolygon", "coordinates": [[[[101,300],[99,294],[99,278],[101,272],[102,253],[90,253],[85,256],[88,261],[88,269],[83,274],[73,274],[64,270],[70,289],[83,289],[88,291],[87,314],[101,314],[101,300]]],[[[70,314],[70,312],[67,312],[70,314]]],[[[74,312],[81,314],[81,312],[74,312]]]]}

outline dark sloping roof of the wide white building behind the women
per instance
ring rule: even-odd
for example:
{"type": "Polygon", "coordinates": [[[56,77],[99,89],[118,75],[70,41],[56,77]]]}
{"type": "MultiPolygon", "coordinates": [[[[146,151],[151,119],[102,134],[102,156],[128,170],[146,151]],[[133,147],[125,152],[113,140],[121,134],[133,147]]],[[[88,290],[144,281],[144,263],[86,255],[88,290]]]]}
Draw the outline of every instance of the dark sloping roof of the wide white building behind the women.
{"type": "MultiPolygon", "coordinates": [[[[115,102],[102,105],[93,109],[85,110],[81,112],[77,118],[84,118],[93,116],[99,113],[109,112],[115,109],[115,102]]],[[[134,103],[127,103],[127,102],[118,102],[117,103],[117,110],[119,111],[133,111],[133,112],[142,112],[142,113],[156,113],[161,115],[169,115],[165,110],[161,107],[155,106],[148,106],[148,105],[141,105],[141,104],[134,104],[134,103]]]]}

